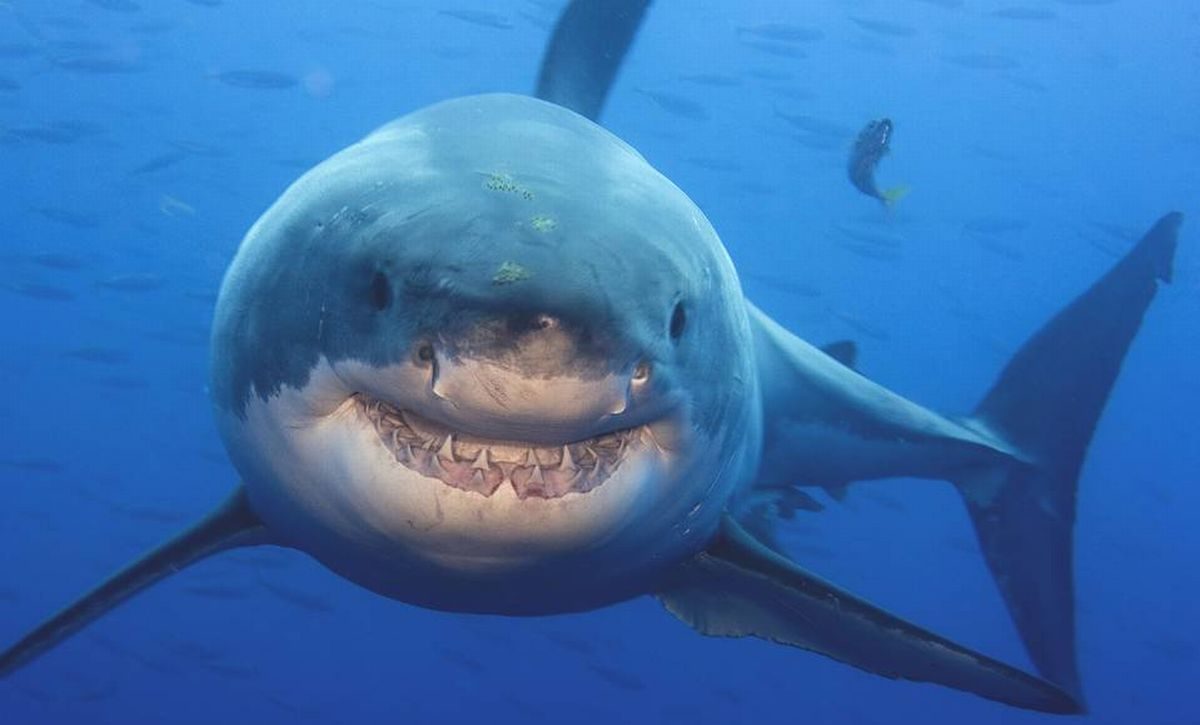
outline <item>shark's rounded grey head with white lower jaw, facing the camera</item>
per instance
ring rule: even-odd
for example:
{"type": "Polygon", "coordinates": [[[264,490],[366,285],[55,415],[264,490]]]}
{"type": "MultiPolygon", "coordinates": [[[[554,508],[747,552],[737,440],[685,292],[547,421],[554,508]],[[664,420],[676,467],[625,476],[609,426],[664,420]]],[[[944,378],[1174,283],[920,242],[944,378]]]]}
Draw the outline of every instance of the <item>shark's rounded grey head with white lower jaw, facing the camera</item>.
{"type": "Polygon", "coordinates": [[[222,287],[212,394],[281,539],[388,597],[541,613],[712,538],[757,465],[750,349],[679,188],[583,116],[490,95],[268,210],[222,287]]]}

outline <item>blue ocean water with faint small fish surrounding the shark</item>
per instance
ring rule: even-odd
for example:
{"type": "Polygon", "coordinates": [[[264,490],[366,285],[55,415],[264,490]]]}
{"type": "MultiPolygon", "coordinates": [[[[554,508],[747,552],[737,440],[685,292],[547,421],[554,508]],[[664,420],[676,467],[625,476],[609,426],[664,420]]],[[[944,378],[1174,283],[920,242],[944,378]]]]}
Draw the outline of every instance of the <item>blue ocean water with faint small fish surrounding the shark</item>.
{"type": "MultiPolygon", "coordinates": [[[[257,216],[392,118],[528,92],[559,7],[0,2],[0,642],[236,481],[208,328],[257,216]]],[[[1190,215],[1080,483],[1094,723],[1200,723],[1198,62],[1187,0],[660,0],[602,118],[698,203],[761,307],[812,342],[856,340],[865,375],[938,411],[970,411],[1160,214],[1190,215]],[[845,178],[883,115],[881,184],[912,188],[890,211],[845,178]]],[[[1030,667],[950,486],[817,497],[781,533],[797,561],[1030,667]]],[[[649,598],[452,616],[275,550],[181,573],[0,681],[6,724],[480,719],[1050,718],[701,637],[649,598]]]]}

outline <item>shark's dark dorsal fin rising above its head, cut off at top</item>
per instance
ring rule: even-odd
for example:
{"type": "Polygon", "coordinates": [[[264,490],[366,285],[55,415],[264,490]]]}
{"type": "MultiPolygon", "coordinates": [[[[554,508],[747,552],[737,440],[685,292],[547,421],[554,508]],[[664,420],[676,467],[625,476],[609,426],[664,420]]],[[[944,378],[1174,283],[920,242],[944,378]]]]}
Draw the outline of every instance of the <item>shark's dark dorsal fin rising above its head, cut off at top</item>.
{"type": "Polygon", "coordinates": [[[593,121],[650,0],[572,0],[546,46],[534,95],[593,121]]]}

